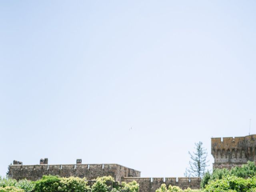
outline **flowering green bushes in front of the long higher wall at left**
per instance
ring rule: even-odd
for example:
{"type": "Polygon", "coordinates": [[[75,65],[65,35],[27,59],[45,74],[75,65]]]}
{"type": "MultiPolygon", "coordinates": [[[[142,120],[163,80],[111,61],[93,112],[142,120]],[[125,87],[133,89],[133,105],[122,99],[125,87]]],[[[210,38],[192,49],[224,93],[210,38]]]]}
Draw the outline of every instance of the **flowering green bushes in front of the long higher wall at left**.
{"type": "Polygon", "coordinates": [[[28,180],[16,181],[0,178],[0,192],[138,192],[139,185],[133,181],[121,184],[111,176],[97,178],[89,186],[85,178],[58,176],[43,176],[42,179],[31,182],[28,180]]]}

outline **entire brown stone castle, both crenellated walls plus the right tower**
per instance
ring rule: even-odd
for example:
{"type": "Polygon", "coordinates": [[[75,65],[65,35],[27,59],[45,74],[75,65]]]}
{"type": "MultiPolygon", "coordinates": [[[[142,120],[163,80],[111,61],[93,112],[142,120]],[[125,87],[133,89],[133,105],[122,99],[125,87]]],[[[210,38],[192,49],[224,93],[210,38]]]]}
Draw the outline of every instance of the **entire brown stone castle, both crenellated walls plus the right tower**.
{"type": "MultiPolygon", "coordinates": [[[[232,168],[246,164],[248,160],[256,162],[256,135],[245,137],[212,138],[213,168],[232,168]]],[[[180,188],[200,188],[201,178],[141,178],[140,171],[118,164],[82,164],[77,159],[76,164],[49,165],[48,159],[40,159],[39,165],[23,165],[14,160],[9,166],[9,177],[16,180],[38,180],[43,175],[58,175],[61,177],[76,176],[94,180],[97,177],[112,176],[117,182],[140,184],[140,192],[155,192],[161,184],[180,188]]]]}

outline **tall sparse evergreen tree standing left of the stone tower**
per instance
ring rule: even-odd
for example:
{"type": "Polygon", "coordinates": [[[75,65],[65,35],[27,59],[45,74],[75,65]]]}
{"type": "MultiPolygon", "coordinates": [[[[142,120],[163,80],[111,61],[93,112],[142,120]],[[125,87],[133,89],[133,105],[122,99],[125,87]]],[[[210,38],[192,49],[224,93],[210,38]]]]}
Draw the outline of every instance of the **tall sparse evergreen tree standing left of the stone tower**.
{"type": "Polygon", "coordinates": [[[184,173],[186,177],[202,177],[206,172],[206,167],[209,166],[207,164],[209,161],[206,160],[206,149],[202,147],[203,143],[200,141],[195,143],[195,145],[195,152],[188,152],[190,154],[190,161],[189,167],[186,168],[186,172],[184,173]]]}

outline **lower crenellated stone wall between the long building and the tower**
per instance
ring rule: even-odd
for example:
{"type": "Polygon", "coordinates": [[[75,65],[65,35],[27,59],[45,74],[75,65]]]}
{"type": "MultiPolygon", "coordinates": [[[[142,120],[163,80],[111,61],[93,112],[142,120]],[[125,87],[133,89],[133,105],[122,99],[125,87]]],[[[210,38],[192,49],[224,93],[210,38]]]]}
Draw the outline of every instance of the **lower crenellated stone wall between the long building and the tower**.
{"type": "Polygon", "coordinates": [[[199,189],[201,178],[138,178],[129,177],[123,178],[124,182],[136,181],[140,185],[140,192],[155,192],[156,189],[160,188],[161,184],[165,183],[168,187],[179,186],[182,189],[190,187],[191,189],[199,189]]]}

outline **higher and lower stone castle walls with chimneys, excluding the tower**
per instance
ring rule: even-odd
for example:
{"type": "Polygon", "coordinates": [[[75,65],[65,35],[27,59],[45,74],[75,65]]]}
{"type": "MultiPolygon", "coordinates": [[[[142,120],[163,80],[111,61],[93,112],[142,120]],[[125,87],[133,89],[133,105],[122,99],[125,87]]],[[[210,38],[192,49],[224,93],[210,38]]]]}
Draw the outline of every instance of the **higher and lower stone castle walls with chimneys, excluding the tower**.
{"type": "MultiPolygon", "coordinates": [[[[17,162],[17,161],[15,161],[17,162]]],[[[49,165],[48,159],[40,159],[39,165],[13,164],[9,166],[9,178],[16,180],[38,180],[43,175],[58,175],[61,177],[80,177],[94,180],[97,177],[112,176],[117,182],[136,181],[140,185],[140,192],[155,192],[161,184],[170,184],[180,188],[200,188],[200,178],[141,178],[140,171],[127,168],[118,164],[82,164],[82,160],[76,160],[76,164],[49,165]]]]}

